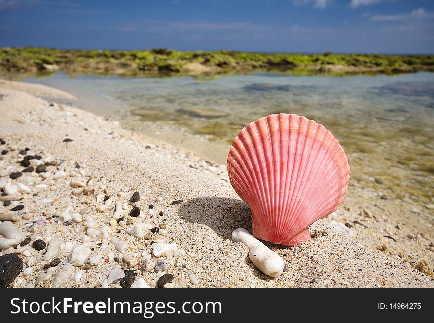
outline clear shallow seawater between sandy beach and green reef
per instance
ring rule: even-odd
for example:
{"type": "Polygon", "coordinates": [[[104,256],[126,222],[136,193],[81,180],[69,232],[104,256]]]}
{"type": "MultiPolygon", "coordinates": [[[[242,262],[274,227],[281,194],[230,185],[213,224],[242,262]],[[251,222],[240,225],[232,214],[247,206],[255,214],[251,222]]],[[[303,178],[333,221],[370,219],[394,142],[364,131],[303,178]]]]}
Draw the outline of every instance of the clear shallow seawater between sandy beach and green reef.
{"type": "Polygon", "coordinates": [[[278,112],[304,115],[339,139],[354,182],[389,197],[434,204],[434,73],[208,78],[57,73],[22,81],[66,90],[85,110],[218,163],[225,162],[230,143],[249,122],[278,112]]]}

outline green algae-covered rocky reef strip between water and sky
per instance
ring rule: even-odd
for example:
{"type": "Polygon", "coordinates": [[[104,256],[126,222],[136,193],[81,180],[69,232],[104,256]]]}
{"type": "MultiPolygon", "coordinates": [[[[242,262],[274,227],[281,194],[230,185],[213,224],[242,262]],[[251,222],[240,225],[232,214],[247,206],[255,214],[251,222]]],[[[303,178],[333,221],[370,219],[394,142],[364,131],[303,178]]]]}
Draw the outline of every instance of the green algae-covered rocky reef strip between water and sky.
{"type": "Polygon", "coordinates": [[[273,71],[291,74],[409,73],[434,71],[434,55],[280,54],[219,50],[63,50],[0,48],[0,74],[50,73],[212,75],[273,71]]]}

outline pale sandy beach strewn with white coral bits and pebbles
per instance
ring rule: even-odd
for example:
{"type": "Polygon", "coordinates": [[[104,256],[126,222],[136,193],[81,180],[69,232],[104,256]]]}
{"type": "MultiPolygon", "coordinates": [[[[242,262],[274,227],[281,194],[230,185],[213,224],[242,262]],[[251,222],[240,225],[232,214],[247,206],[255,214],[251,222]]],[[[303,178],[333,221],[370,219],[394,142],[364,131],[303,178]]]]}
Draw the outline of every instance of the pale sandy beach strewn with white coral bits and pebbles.
{"type": "Polygon", "coordinates": [[[360,185],[310,227],[311,241],[264,242],[286,266],[278,278],[264,275],[230,239],[239,227],[252,232],[252,222],[225,165],[58,103],[74,99],[0,81],[0,220],[30,237],[0,252],[24,263],[10,287],[152,288],[165,274],[173,278],[164,288],[434,287],[431,230],[396,221],[394,213],[412,214],[410,206],[360,185]],[[9,205],[7,184],[19,191],[9,205]],[[134,192],[140,199],[131,202],[134,192]],[[46,247],[38,251],[39,239],[46,247]],[[157,257],[155,243],[171,250],[157,257]],[[73,250],[90,253],[81,263],[71,260],[73,250]],[[111,282],[110,273],[129,279],[111,282]]]}

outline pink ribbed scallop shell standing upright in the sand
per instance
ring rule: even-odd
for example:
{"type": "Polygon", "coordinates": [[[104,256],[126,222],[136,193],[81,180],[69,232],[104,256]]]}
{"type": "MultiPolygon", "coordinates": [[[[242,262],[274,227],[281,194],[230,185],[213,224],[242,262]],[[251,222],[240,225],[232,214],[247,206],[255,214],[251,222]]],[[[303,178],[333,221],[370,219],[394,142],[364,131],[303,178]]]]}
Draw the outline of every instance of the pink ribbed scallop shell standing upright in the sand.
{"type": "Polygon", "coordinates": [[[344,201],[350,178],[348,159],[330,131],[283,113],[243,128],[227,169],[252,210],[254,236],[288,246],[311,239],[309,225],[344,201]]]}

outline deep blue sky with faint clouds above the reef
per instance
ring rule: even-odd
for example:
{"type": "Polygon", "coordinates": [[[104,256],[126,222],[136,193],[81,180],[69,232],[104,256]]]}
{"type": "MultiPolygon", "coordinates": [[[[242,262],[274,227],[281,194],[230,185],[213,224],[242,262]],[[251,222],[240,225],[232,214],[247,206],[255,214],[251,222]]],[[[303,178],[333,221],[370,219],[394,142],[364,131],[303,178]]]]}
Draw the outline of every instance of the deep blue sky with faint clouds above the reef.
{"type": "Polygon", "coordinates": [[[0,47],[434,53],[433,0],[0,0],[0,47]]]}

